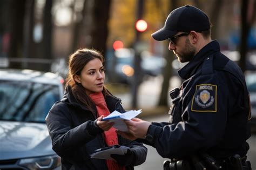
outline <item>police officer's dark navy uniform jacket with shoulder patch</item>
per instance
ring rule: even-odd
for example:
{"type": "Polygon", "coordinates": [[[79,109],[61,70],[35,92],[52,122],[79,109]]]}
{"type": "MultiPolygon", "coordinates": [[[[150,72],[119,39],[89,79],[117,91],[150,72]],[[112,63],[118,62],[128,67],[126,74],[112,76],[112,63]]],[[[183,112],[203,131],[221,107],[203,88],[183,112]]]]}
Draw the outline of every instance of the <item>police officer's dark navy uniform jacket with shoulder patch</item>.
{"type": "Polygon", "coordinates": [[[169,123],[152,123],[143,141],[164,158],[246,155],[250,99],[238,65],[213,40],[178,73],[184,82],[172,96],[169,123]]]}

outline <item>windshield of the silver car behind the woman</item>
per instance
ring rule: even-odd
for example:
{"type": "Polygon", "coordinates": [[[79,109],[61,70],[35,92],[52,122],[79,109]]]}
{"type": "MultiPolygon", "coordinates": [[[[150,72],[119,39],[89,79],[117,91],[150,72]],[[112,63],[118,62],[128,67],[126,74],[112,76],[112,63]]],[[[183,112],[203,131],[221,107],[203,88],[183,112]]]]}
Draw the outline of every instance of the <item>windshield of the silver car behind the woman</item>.
{"type": "Polygon", "coordinates": [[[59,100],[57,85],[25,81],[0,81],[0,120],[44,123],[59,100]]]}

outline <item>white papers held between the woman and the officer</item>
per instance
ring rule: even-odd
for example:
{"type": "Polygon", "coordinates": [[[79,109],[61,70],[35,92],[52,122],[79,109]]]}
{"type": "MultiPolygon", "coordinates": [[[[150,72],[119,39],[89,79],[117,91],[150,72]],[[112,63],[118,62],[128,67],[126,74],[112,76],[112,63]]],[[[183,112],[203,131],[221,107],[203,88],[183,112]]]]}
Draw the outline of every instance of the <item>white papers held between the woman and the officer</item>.
{"type": "Polygon", "coordinates": [[[142,113],[141,109],[137,111],[131,110],[125,113],[113,111],[107,117],[103,118],[103,120],[110,120],[111,122],[114,122],[114,125],[113,125],[114,128],[116,128],[119,131],[126,132],[128,131],[128,129],[126,124],[124,123],[124,120],[131,120],[132,118],[136,117],[140,113],[142,113]]]}

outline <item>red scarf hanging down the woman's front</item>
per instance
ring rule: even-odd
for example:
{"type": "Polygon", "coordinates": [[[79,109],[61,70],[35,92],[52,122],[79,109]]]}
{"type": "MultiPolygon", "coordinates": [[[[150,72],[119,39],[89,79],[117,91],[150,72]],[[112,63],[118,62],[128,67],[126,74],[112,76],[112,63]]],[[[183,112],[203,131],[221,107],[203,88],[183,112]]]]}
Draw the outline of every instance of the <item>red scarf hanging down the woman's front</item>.
{"type": "MultiPolygon", "coordinates": [[[[106,101],[102,92],[91,93],[91,99],[94,101],[98,113],[98,117],[104,115],[106,117],[110,114],[109,108],[107,108],[106,101]]],[[[111,127],[109,131],[104,131],[104,140],[107,146],[118,145],[116,129],[111,127]]],[[[120,167],[116,161],[107,159],[107,168],[109,170],[125,170],[125,167],[120,167]]]]}

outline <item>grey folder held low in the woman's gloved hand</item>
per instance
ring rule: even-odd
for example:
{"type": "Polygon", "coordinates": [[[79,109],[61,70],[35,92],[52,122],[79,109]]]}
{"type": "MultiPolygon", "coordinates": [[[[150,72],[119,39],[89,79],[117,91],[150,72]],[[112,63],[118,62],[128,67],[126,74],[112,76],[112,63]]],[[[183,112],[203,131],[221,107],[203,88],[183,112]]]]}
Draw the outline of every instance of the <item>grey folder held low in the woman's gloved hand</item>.
{"type": "Polygon", "coordinates": [[[127,149],[129,149],[129,147],[119,145],[99,148],[94,153],[91,154],[91,158],[113,159],[111,158],[111,154],[125,155],[127,153],[127,149]]]}

